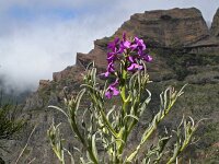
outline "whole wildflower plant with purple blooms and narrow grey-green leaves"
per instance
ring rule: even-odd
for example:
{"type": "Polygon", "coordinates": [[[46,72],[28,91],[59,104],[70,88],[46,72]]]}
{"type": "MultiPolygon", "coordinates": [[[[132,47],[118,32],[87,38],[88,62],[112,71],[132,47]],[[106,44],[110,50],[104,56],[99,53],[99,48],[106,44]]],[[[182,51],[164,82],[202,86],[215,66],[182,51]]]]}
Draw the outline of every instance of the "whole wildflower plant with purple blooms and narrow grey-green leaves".
{"type": "MultiPolygon", "coordinates": [[[[153,164],[160,163],[162,160],[168,164],[174,163],[193,140],[193,133],[197,129],[197,124],[194,124],[193,118],[189,117],[188,120],[183,118],[175,131],[169,131],[159,137],[158,144],[151,145],[149,149],[143,145],[147,144],[158,125],[183,94],[184,86],[178,92],[169,86],[160,94],[158,114],[146,127],[139,144],[126,151],[128,137],[151,101],[151,93],[147,90],[148,83],[151,82],[147,72],[147,62],[151,62],[152,57],[147,52],[142,39],[138,37],[127,39],[126,34],[123,34],[123,38],[115,38],[107,48],[107,68],[102,75],[106,79],[111,77],[115,81],[111,84],[106,82],[105,86],[101,89],[96,82],[96,68],[93,65],[89,66],[81,91],[77,96],[65,99],[67,110],[49,106],[60,110],[68,118],[76,138],[83,147],[83,150],[74,148],[80,154],[80,162],[153,164]],[[91,104],[83,109],[83,115],[79,116],[78,110],[84,95],[91,104]],[[119,97],[120,104],[114,104],[112,108],[106,108],[106,103],[112,101],[113,96],[119,97]],[[176,137],[175,143],[173,143],[172,150],[168,150],[166,144],[173,136],[176,137]],[[166,151],[169,151],[168,156],[166,151]]],[[[65,152],[71,156],[71,162],[74,162],[73,155],[64,148],[64,139],[58,126],[51,125],[48,138],[54,152],[62,164],[65,163],[65,152]]]]}

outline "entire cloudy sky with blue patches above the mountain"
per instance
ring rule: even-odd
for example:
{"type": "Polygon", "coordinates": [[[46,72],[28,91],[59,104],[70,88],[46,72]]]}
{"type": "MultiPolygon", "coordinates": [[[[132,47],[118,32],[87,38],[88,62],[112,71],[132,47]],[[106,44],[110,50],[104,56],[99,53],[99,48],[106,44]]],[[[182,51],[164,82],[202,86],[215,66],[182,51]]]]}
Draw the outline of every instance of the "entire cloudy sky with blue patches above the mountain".
{"type": "Polygon", "coordinates": [[[198,8],[208,24],[219,0],[0,0],[0,79],[4,90],[35,91],[41,79],[76,62],[93,40],[134,13],[198,8]]]}

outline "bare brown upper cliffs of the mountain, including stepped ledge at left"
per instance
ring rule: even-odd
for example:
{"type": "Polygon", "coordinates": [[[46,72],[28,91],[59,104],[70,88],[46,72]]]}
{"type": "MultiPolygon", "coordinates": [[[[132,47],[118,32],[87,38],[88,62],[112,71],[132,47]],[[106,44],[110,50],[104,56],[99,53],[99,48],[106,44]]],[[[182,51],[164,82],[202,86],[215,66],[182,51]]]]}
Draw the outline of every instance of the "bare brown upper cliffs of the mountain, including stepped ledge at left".
{"type": "MultiPolygon", "coordinates": [[[[217,27],[215,15],[212,26],[217,27]]],[[[112,37],[104,37],[94,42],[94,49],[89,54],[77,54],[77,65],[85,67],[95,61],[96,67],[106,66],[106,46],[115,36],[141,37],[149,48],[181,49],[189,54],[217,54],[219,39],[210,35],[210,31],[198,9],[155,10],[137,13],[130,16],[112,37]]],[[[158,66],[158,65],[157,65],[158,66]]],[[[151,67],[151,68],[154,68],[151,67]]]]}

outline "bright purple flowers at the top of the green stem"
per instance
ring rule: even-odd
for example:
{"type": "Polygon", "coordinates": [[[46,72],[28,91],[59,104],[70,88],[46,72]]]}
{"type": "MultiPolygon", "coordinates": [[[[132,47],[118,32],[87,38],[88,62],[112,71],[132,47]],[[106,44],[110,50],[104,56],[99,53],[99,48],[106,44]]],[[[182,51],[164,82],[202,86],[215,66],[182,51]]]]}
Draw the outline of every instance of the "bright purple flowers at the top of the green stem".
{"type": "MultiPolygon", "coordinates": [[[[135,37],[129,40],[126,38],[126,34],[123,34],[123,38],[119,39],[116,37],[114,42],[110,43],[107,52],[107,69],[104,75],[107,78],[110,74],[115,74],[115,62],[123,61],[124,69],[129,72],[135,72],[136,70],[142,70],[143,66],[140,61],[150,62],[152,57],[146,52],[146,45],[142,39],[135,37]]],[[[113,95],[118,95],[119,91],[116,89],[116,85],[119,84],[119,80],[111,84],[105,93],[107,98],[111,98],[113,95]]]]}

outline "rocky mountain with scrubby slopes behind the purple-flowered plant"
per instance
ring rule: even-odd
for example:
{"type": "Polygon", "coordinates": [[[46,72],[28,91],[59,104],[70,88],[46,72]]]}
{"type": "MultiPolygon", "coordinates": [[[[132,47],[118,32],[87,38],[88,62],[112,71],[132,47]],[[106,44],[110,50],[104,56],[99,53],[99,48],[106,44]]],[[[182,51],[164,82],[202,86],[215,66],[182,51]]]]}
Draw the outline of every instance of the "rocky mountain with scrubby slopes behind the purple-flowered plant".
{"type": "MultiPolygon", "coordinates": [[[[16,144],[10,143],[11,150],[18,151],[13,151],[13,154],[4,153],[5,161],[14,160],[27,140],[32,126],[37,125],[23,163],[34,157],[35,163],[58,163],[48,145],[46,130],[55,118],[56,122],[64,121],[62,132],[68,141],[71,141],[71,132],[61,114],[48,109],[47,106],[59,105],[62,102],[64,87],[72,94],[79,91],[82,73],[89,62],[95,61],[99,72],[103,72],[106,66],[107,43],[115,36],[120,36],[123,32],[143,38],[153,56],[153,62],[148,65],[149,74],[154,81],[149,86],[152,94],[159,95],[168,84],[191,84],[170,118],[173,118],[173,122],[178,122],[182,113],[195,119],[211,118],[211,121],[200,127],[205,132],[198,133],[200,142],[194,145],[195,150],[188,150],[188,154],[192,154],[193,163],[209,162],[212,159],[218,162],[216,156],[219,155],[216,150],[219,143],[219,11],[209,31],[200,11],[194,8],[134,14],[112,37],[95,40],[94,49],[89,54],[77,54],[76,66],[55,72],[53,81],[41,81],[38,91],[26,99],[23,107],[23,114],[28,121],[22,140],[16,144]]],[[[157,101],[158,96],[154,96],[149,113],[152,114],[157,109],[157,101]]],[[[172,125],[169,121],[165,124],[172,125]]],[[[137,136],[136,131],[130,139],[134,143],[139,140],[137,136]]],[[[67,148],[71,149],[72,144],[78,143],[68,142],[67,148]]]]}

